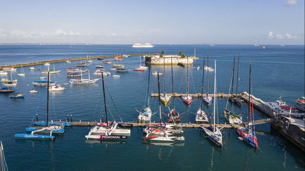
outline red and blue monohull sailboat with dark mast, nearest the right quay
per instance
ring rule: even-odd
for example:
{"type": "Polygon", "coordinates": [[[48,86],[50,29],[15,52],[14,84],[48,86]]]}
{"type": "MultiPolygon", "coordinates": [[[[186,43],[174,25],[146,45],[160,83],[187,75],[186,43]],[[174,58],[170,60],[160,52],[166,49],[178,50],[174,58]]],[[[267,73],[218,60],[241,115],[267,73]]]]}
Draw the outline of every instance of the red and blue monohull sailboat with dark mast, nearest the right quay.
{"type": "Polygon", "coordinates": [[[248,106],[248,125],[245,124],[243,127],[235,128],[239,136],[242,137],[249,145],[254,149],[258,149],[257,138],[255,135],[255,126],[254,126],[254,111],[253,111],[253,99],[252,99],[252,85],[251,85],[251,60],[250,60],[250,73],[249,73],[249,106],[248,106]],[[250,100],[251,97],[251,100],[250,100]]]}

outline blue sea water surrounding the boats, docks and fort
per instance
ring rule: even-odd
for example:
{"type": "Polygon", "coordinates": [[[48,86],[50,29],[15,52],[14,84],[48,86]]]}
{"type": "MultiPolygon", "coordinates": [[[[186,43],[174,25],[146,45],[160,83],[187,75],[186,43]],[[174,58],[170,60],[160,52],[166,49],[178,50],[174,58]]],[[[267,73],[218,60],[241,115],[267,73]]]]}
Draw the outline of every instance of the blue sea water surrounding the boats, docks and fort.
{"type": "MultiPolygon", "coordinates": [[[[0,46],[0,66],[9,64],[29,63],[38,61],[58,60],[91,56],[114,54],[156,53],[164,50],[166,54],[182,53],[193,56],[196,48],[194,67],[189,70],[190,93],[198,93],[201,89],[203,56],[209,53],[209,66],[217,65],[217,92],[228,93],[231,66],[234,56],[240,53],[240,91],[248,91],[249,60],[252,60],[252,88],[253,95],[263,101],[275,101],[282,96],[282,100],[293,105],[294,101],[304,96],[304,46],[268,46],[261,49],[253,45],[156,45],[153,48],[131,48],[131,45],[14,45],[0,46]],[[200,70],[196,67],[200,66],[200,70]]],[[[95,65],[101,64],[99,60],[86,67],[90,70],[91,78],[95,65]]],[[[207,62],[207,61],[206,61],[207,62]]],[[[236,61],[237,63],[237,58],[236,61]]],[[[123,121],[136,121],[138,112],[145,105],[147,91],[148,70],[144,72],[133,71],[140,63],[139,56],[124,58],[123,63],[128,73],[119,73],[120,78],[113,78],[115,71],[110,71],[110,64],[104,64],[111,76],[105,77],[105,83],[115,102],[123,121]]],[[[144,61],[142,60],[142,64],[144,61]]],[[[65,70],[73,67],[74,62],[55,63],[56,70],[63,70],[59,74],[52,74],[51,80],[57,81],[66,88],[61,92],[50,92],[50,110],[52,120],[66,120],[67,115],[73,115],[73,121],[99,121],[104,114],[103,94],[101,81],[91,85],[63,85],[68,83],[65,70]]],[[[46,69],[44,65],[35,66],[46,69]]],[[[50,66],[53,67],[52,65],[50,66]]],[[[133,128],[131,137],[127,141],[92,141],[86,140],[89,127],[68,128],[64,135],[57,136],[52,142],[15,139],[15,133],[24,133],[30,125],[43,87],[34,87],[32,81],[42,77],[41,70],[30,71],[24,67],[25,77],[17,76],[16,92],[25,94],[24,99],[10,99],[7,94],[0,94],[0,140],[4,145],[7,164],[11,170],[220,170],[220,169],[278,169],[278,170],[304,170],[304,155],[296,146],[270,128],[270,124],[256,125],[257,139],[260,150],[255,152],[251,147],[238,139],[234,130],[224,130],[224,148],[218,149],[204,138],[199,129],[186,129],[183,144],[145,144],[141,139],[141,128],[133,128]],[[27,86],[29,85],[29,86],[27,86]],[[37,94],[29,91],[35,88],[37,94]]],[[[151,71],[163,73],[163,66],[152,66],[151,71]]],[[[170,66],[165,68],[166,91],[171,92],[170,66]]],[[[174,91],[185,93],[186,68],[173,67],[174,91]]],[[[20,68],[17,68],[20,72],[20,68]]],[[[205,71],[205,76],[207,72],[205,71]]],[[[0,76],[5,78],[6,76],[0,76]]],[[[96,76],[95,76],[96,77],[96,76]]],[[[85,75],[88,78],[88,74],[85,75]]],[[[150,92],[157,93],[157,77],[151,75],[150,92]]],[[[164,75],[160,77],[162,89],[164,75]]],[[[209,92],[213,93],[213,72],[209,72],[209,92]]],[[[206,77],[204,92],[207,90],[206,77]]],[[[236,84],[236,83],[235,83],[236,84]]],[[[235,85],[236,86],[236,85],[235,85]]],[[[0,85],[3,87],[3,84],[0,85]]],[[[235,89],[235,88],[234,88],[235,89]]],[[[106,101],[110,108],[109,120],[120,120],[109,94],[106,101]]],[[[217,99],[218,109],[221,112],[226,106],[225,98],[217,99]]],[[[182,115],[183,123],[194,123],[200,99],[193,101],[187,107],[180,99],[175,99],[176,110],[182,115]]],[[[229,103],[230,104],[230,103],[229,103]]],[[[158,98],[151,99],[151,108],[158,110],[158,98]]],[[[171,108],[170,104],[170,108],[171,108]]],[[[247,105],[234,106],[235,111],[247,112],[247,105]]],[[[205,106],[205,111],[212,112],[212,107],[205,106]]],[[[162,106],[164,113],[168,108],[162,106]]],[[[38,117],[45,119],[46,91],[41,99],[37,111],[38,117]]],[[[260,111],[255,111],[255,118],[267,118],[260,111]]],[[[165,116],[162,118],[165,119],[165,116]]],[[[246,121],[246,115],[243,115],[246,121]]],[[[152,121],[159,121],[159,115],[153,115],[152,121]]],[[[219,118],[220,123],[225,123],[224,118],[219,118]]]]}

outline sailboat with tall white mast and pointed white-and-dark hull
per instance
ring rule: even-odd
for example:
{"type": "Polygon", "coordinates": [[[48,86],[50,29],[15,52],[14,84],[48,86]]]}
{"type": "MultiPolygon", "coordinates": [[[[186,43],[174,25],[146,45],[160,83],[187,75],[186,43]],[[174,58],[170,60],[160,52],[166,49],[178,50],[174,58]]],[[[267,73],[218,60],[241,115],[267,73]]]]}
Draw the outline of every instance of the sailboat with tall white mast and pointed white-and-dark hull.
{"type": "MultiPolygon", "coordinates": [[[[207,137],[212,141],[214,142],[217,146],[219,146],[220,148],[222,147],[222,133],[221,133],[221,129],[224,128],[218,128],[219,125],[215,125],[215,115],[216,115],[216,59],[215,59],[215,73],[214,73],[214,99],[215,99],[215,102],[213,103],[214,105],[214,109],[213,109],[213,125],[211,125],[210,123],[210,127],[207,127],[207,128],[204,128],[202,127],[201,125],[200,128],[203,129],[203,132],[205,135],[207,135],[207,137]]],[[[217,112],[217,115],[218,115],[218,112],[217,112]]],[[[217,117],[218,118],[218,117],[217,117]]],[[[217,119],[218,120],[218,119],[217,119]]]]}

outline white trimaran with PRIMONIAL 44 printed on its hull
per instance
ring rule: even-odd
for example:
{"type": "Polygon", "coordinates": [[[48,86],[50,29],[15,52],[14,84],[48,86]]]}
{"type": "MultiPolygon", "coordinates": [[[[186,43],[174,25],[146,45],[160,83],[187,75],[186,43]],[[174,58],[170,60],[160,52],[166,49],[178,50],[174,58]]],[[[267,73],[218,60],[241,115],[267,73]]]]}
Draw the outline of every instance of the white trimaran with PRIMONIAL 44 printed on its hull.
{"type": "Polygon", "coordinates": [[[89,138],[90,139],[127,139],[127,136],[130,136],[130,129],[119,128],[118,124],[115,122],[109,125],[103,75],[102,75],[102,85],[103,85],[103,94],[104,94],[106,124],[99,124],[91,128],[89,134],[86,135],[85,137],[87,139],[89,138]]]}

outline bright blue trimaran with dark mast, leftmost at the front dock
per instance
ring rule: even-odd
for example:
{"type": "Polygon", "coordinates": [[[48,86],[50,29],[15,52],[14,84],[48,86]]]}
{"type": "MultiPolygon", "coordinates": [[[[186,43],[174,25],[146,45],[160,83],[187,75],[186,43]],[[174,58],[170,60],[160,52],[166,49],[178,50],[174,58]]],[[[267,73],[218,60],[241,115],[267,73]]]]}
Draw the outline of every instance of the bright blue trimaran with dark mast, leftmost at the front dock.
{"type": "MultiPolygon", "coordinates": [[[[49,125],[48,118],[49,118],[49,82],[50,82],[50,77],[48,74],[48,83],[47,83],[47,120],[45,122],[45,126],[36,126],[32,127],[32,123],[30,127],[26,128],[27,132],[31,132],[30,134],[15,134],[16,138],[23,138],[23,139],[52,139],[55,138],[55,136],[52,136],[54,133],[63,133],[64,128],[62,125],[49,125]],[[34,134],[34,133],[39,133],[39,134],[50,134],[50,135],[39,135],[39,134],[34,134]]],[[[39,104],[38,104],[39,105],[39,104]]],[[[37,107],[38,108],[38,107],[37,107]]],[[[35,112],[36,114],[36,112],[35,112]]],[[[34,114],[34,115],[35,115],[34,114]]]]}

